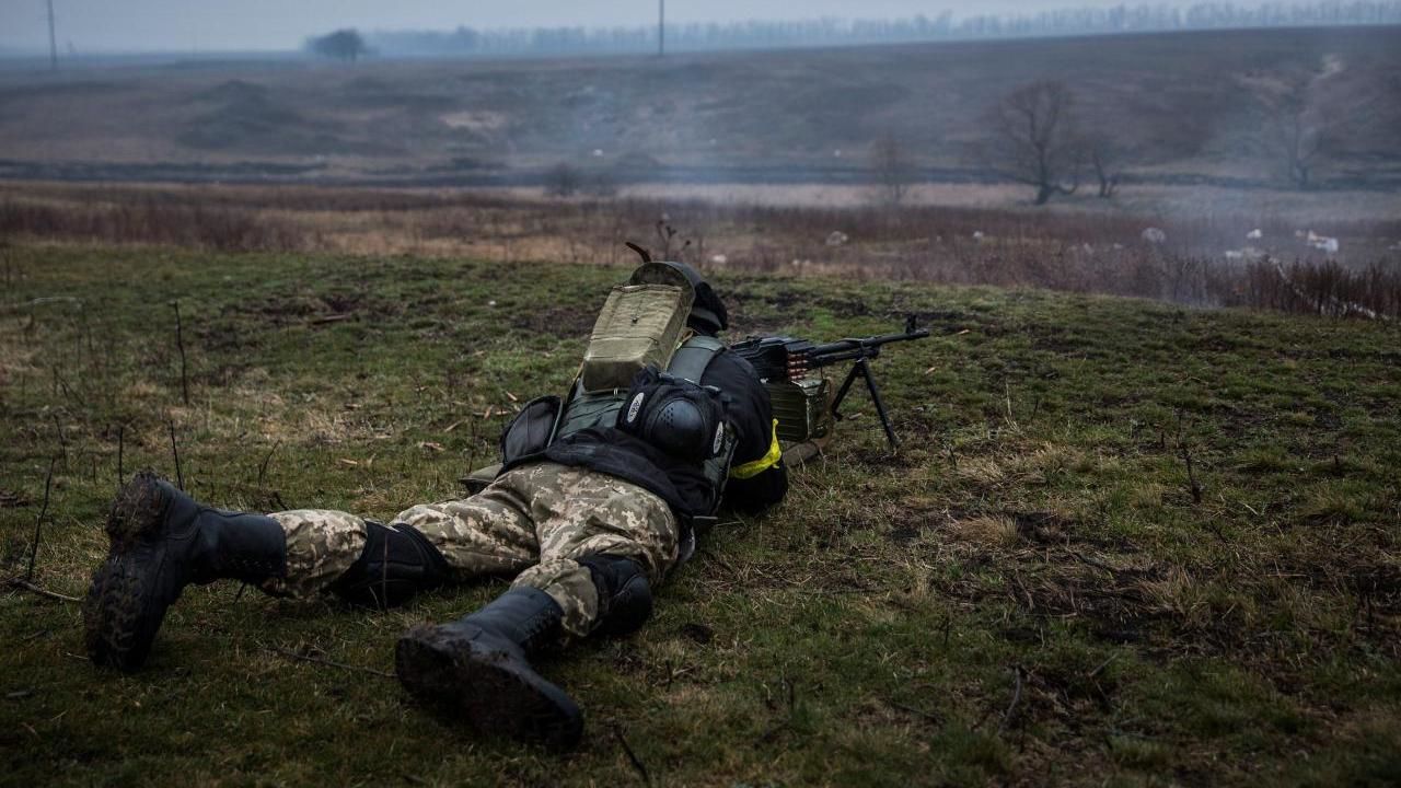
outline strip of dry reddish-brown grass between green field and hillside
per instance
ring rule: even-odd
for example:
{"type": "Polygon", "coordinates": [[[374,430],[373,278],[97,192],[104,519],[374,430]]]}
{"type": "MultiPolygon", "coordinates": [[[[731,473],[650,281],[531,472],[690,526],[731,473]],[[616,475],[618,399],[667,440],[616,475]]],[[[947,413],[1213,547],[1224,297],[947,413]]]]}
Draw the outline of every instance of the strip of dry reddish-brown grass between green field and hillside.
{"type": "Polygon", "coordinates": [[[0,237],[29,241],[471,255],[507,264],[616,264],[632,258],[623,243],[636,241],[719,272],[1401,317],[1401,220],[1320,216],[1303,223],[1210,210],[1154,217],[1066,206],[890,209],[427,189],[0,184],[0,237]],[[1320,248],[1328,240],[1335,247],[1320,248]]]}

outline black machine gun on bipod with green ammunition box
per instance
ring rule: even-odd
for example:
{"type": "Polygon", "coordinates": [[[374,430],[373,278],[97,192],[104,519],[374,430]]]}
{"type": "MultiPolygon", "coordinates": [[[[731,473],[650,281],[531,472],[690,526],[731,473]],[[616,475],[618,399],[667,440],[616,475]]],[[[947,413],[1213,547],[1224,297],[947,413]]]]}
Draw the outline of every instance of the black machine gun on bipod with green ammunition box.
{"type": "Polygon", "coordinates": [[[891,449],[899,447],[895,430],[890,426],[885,402],[880,387],[871,374],[870,360],[880,356],[881,348],[891,342],[911,342],[929,337],[927,328],[915,324],[915,315],[905,317],[905,330],[877,337],[838,339],[818,345],[793,337],[751,337],[730,346],[758,372],[769,390],[773,415],[779,419],[779,437],[785,440],[811,440],[827,435],[831,423],[828,416],[841,421],[839,408],[850,393],[856,379],[866,381],[871,393],[880,423],[885,428],[885,439],[891,449]],[[853,362],[846,380],[836,390],[836,397],[827,405],[828,381],[813,374],[825,366],[853,362]]]}

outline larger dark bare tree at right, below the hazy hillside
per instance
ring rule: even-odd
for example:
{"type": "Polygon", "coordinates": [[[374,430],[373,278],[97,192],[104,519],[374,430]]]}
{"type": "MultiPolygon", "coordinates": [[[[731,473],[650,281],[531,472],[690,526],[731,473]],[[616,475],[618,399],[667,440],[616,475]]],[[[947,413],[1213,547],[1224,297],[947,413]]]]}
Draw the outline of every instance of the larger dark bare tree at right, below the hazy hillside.
{"type": "Polygon", "coordinates": [[[1009,93],[988,114],[991,135],[979,144],[984,163],[1034,186],[1037,205],[1058,193],[1075,193],[1084,144],[1073,108],[1073,94],[1059,81],[1031,83],[1009,93]]]}

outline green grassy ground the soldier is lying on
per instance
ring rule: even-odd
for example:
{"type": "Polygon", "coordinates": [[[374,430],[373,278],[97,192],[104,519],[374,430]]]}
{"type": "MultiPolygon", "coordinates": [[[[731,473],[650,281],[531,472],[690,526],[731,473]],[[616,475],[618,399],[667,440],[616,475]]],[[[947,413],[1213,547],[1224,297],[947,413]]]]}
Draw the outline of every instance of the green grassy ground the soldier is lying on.
{"type": "MultiPolygon", "coordinates": [[[[172,442],[185,487],[228,508],[385,517],[458,495],[513,402],[566,384],[623,273],[13,247],[0,573],[25,573],[41,523],[34,582],[81,595],[119,468],[175,477],[172,442]]],[[[878,362],[906,446],[857,398],[789,501],[720,526],[649,627],[546,662],[587,709],[577,752],[478,739],[382,674],[408,625],[502,582],[382,614],[192,589],[136,676],[87,663],[77,604],[11,587],[0,784],[1394,784],[1394,325],[719,286],[740,334],[920,314],[934,337],[878,362]]]]}

